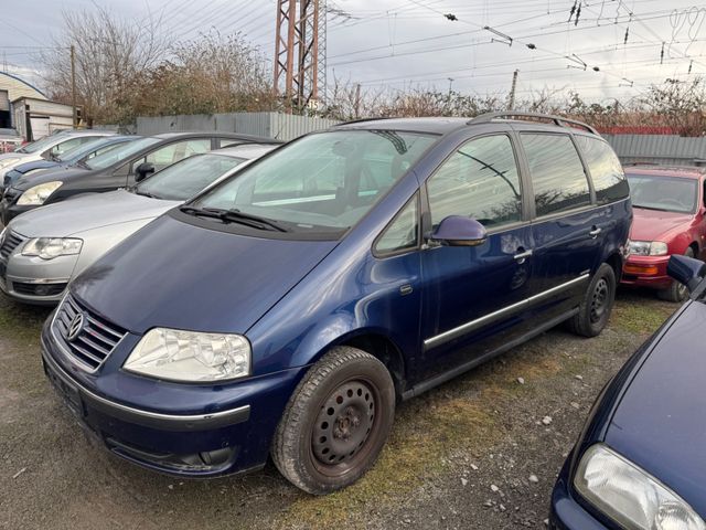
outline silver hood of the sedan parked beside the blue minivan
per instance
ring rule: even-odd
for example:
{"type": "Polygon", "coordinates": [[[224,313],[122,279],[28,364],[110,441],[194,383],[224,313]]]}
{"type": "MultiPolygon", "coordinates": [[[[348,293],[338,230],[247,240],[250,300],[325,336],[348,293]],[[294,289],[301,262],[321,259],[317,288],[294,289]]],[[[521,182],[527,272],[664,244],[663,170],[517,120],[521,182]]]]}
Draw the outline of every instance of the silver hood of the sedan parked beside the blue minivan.
{"type": "Polygon", "coordinates": [[[25,237],[66,237],[101,226],[157,218],[176,204],[176,201],[118,190],[36,208],[12,220],[10,226],[25,237]]]}

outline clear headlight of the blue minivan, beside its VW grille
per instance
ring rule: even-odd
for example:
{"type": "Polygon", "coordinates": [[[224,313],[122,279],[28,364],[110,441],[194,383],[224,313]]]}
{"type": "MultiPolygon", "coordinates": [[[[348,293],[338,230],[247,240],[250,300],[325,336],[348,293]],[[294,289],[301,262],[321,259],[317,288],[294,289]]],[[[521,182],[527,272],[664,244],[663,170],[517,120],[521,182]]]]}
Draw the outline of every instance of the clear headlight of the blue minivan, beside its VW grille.
{"type": "Polygon", "coordinates": [[[243,378],[250,373],[250,343],[240,335],[154,328],[142,337],[124,368],[197,383],[243,378]]]}

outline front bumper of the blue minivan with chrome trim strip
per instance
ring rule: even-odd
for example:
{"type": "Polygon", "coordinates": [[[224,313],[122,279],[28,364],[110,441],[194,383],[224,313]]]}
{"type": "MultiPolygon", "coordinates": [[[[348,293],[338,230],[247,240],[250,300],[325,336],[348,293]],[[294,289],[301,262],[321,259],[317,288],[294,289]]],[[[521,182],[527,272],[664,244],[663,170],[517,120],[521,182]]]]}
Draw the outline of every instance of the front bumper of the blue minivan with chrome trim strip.
{"type": "MultiPolygon", "coordinates": [[[[63,357],[45,326],[42,333],[44,371],[94,441],[114,455],[142,467],[186,477],[227,475],[265,465],[275,428],[302,370],[204,388],[165,383],[125,372],[103,378],[99,372],[81,373],[79,378],[76,377],[79,370],[63,357]],[[84,382],[101,379],[109,380],[101,381],[106,383],[104,386],[122,394],[119,398],[106,395],[98,384],[89,388],[84,382]],[[232,394],[233,399],[225,394],[232,394]],[[135,403],[142,400],[162,404],[165,409],[173,405],[175,395],[182,403],[202,403],[201,410],[180,413],[173,407],[160,411],[135,403]],[[212,404],[218,403],[218,410],[206,404],[204,400],[208,395],[212,404]],[[224,406],[220,406],[222,403],[224,406]]],[[[101,370],[108,364],[110,361],[101,370]]]]}

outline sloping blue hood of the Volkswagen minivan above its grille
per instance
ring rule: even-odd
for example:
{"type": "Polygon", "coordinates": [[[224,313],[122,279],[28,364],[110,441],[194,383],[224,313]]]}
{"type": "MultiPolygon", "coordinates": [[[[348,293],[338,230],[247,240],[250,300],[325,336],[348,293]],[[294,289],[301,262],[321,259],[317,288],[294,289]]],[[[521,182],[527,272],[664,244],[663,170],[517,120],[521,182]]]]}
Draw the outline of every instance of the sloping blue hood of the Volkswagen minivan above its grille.
{"type": "Polygon", "coordinates": [[[165,214],[81,274],[72,293],[138,335],[153,327],[242,333],[336,244],[237,235],[165,214]]]}

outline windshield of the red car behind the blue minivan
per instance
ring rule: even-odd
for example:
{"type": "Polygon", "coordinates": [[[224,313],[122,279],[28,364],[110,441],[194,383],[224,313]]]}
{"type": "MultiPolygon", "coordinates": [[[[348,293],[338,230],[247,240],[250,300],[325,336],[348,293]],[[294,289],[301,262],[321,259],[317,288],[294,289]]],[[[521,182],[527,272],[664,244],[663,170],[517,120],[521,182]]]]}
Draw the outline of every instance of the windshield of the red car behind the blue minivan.
{"type": "Polygon", "coordinates": [[[628,174],[634,208],[663,212],[694,213],[698,180],[653,174],[628,174]]]}

